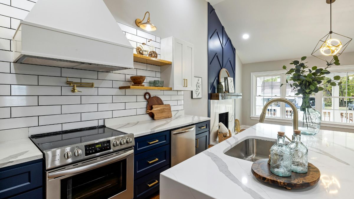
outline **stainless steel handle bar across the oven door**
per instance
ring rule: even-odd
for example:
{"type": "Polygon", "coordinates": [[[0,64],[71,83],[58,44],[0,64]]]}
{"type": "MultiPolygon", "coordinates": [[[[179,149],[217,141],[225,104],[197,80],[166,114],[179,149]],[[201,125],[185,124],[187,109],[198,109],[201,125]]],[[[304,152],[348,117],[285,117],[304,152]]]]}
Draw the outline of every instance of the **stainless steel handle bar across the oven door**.
{"type": "Polygon", "coordinates": [[[86,166],[80,166],[80,167],[77,167],[77,168],[74,168],[74,169],[68,169],[68,170],[65,170],[65,171],[58,171],[58,172],[54,172],[54,173],[48,174],[48,178],[56,178],[56,177],[60,177],[60,176],[66,176],[66,175],[70,175],[70,174],[76,174],[76,173],[79,173],[79,172],[82,172],[82,171],[95,169],[97,167],[104,166],[104,165],[107,165],[107,164],[112,163],[114,161],[117,161],[119,159],[122,159],[124,157],[127,157],[128,155],[130,155],[132,153],[134,153],[134,149],[131,149],[131,150],[129,150],[129,151],[127,151],[127,152],[125,152],[125,153],[123,153],[121,155],[115,156],[113,158],[100,161],[98,163],[93,163],[93,164],[89,164],[89,165],[86,165],[86,166]]]}

